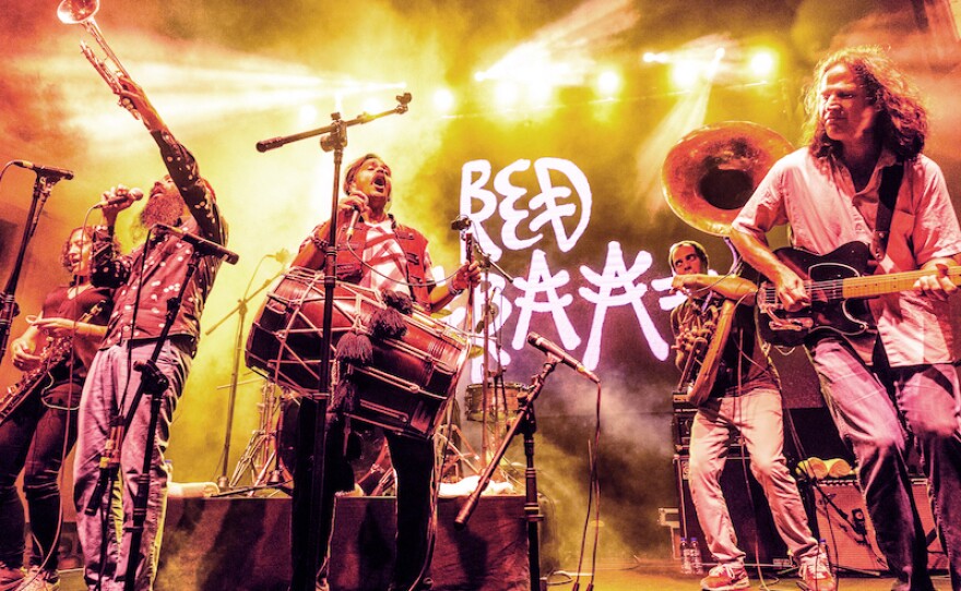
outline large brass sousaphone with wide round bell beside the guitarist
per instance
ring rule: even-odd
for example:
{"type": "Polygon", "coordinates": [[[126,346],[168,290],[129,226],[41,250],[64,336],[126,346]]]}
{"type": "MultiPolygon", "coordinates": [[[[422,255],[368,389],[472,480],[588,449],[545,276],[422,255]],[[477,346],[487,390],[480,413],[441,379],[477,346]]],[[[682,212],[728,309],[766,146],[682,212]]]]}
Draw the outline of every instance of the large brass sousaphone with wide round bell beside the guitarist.
{"type": "MultiPolygon", "coordinates": [[[[695,130],[667,153],[661,168],[664,198],[688,225],[726,240],[731,224],[764,174],[792,149],[776,132],[748,121],[725,121],[695,130]]],[[[738,266],[735,253],[732,273],[738,266]]],[[[722,300],[720,305],[708,300],[692,325],[680,327],[698,338],[688,353],[676,397],[695,406],[708,399],[736,306],[731,300],[722,300]]]]}

